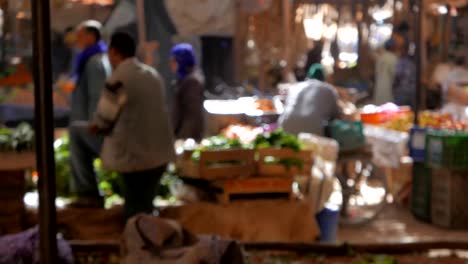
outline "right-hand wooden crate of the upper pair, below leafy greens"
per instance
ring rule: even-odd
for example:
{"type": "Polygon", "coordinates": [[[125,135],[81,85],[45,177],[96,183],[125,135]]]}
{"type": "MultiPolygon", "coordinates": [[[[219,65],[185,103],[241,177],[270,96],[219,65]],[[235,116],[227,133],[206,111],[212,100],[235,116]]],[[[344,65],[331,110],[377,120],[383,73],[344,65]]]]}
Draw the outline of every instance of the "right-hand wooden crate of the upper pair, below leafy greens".
{"type": "Polygon", "coordinates": [[[311,151],[294,151],[290,148],[258,150],[257,174],[267,177],[293,177],[310,175],[313,165],[311,151]]]}

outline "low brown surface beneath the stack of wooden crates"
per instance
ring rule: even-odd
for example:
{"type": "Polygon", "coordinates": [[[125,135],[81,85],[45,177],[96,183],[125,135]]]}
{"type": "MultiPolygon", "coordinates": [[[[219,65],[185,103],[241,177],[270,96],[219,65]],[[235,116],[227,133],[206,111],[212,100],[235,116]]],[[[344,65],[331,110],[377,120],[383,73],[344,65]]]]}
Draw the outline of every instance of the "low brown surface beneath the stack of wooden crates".
{"type": "Polygon", "coordinates": [[[165,208],[161,216],[178,221],[194,234],[245,242],[313,242],[319,236],[312,207],[301,201],[201,202],[165,208]]]}

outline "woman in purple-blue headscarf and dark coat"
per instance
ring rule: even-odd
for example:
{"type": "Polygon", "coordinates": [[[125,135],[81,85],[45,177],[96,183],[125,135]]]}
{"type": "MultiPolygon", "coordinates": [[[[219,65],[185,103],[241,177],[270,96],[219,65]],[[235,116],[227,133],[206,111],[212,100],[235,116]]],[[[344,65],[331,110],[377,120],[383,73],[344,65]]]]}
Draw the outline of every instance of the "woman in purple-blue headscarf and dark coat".
{"type": "Polygon", "coordinates": [[[195,52],[182,43],[171,51],[171,70],[176,75],[173,105],[174,133],[178,139],[201,140],[204,132],[204,78],[197,69],[195,52]]]}

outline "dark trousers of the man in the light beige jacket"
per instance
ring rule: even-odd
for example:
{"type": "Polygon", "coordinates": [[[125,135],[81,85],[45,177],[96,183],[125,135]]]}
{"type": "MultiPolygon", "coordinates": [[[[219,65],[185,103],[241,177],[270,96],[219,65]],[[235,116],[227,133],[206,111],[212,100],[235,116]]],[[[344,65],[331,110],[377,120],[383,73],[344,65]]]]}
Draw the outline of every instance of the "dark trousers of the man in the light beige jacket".
{"type": "Polygon", "coordinates": [[[153,213],[153,200],[158,194],[160,180],[166,171],[166,166],[146,171],[122,173],[125,185],[124,213],[126,220],[140,213],[153,213]]]}

